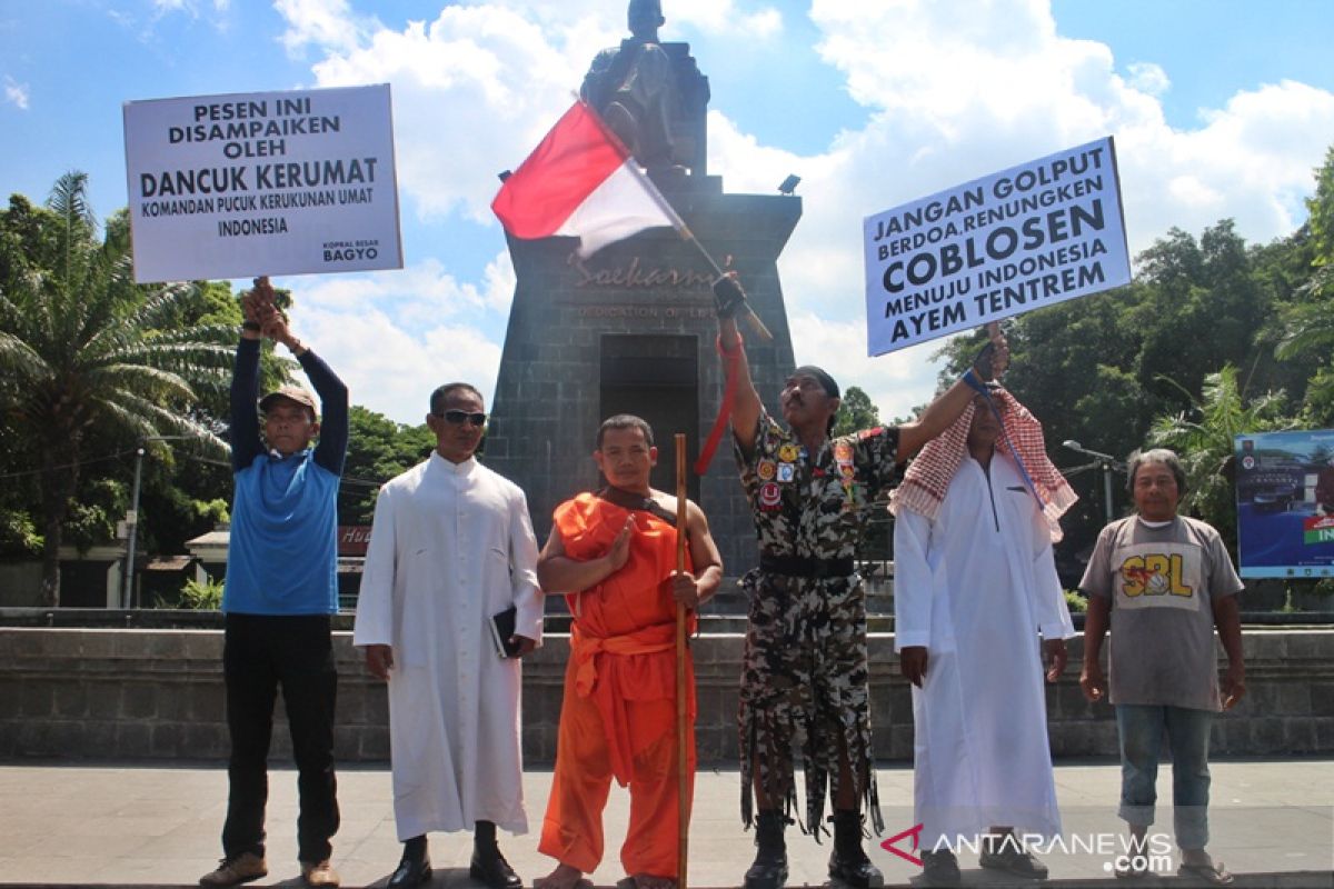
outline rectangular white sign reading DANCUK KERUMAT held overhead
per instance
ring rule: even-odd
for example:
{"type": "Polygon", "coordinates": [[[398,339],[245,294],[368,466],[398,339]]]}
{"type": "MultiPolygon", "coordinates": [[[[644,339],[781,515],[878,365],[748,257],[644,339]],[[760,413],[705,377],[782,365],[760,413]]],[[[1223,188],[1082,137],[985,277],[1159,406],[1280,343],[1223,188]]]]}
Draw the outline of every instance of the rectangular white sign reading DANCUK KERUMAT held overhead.
{"type": "Polygon", "coordinates": [[[135,280],[403,268],[390,85],[129,101],[135,280]]]}

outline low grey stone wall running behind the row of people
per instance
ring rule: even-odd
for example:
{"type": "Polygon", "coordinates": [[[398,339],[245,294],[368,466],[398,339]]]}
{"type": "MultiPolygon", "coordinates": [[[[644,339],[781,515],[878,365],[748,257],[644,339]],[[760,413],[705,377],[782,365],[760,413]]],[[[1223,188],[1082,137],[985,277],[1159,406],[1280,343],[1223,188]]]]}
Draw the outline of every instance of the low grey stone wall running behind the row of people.
{"type": "MultiPolygon", "coordinates": [[[[0,628],[0,757],[185,758],[227,756],[221,632],[211,629],[0,628]]],[[[366,676],[351,634],[335,633],[340,761],[388,758],[384,689],[366,676]]],[[[736,758],[739,634],[702,636],[696,658],[699,758],[736,758]]],[[[534,766],[555,756],[556,720],[568,638],[550,636],[524,664],[524,754],[534,766]]],[[[1334,630],[1246,632],[1245,702],[1219,718],[1214,752],[1231,756],[1334,753],[1334,630]]],[[[1115,724],[1106,705],[1079,692],[1079,645],[1071,668],[1049,688],[1057,756],[1114,756],[1115,724]]],[[[912,708],[898,676],[894,637],[871,637],[876,752],[912,756],[912,708]]],[[[281,710],[281,708],[279,708],[281,710]]],[[[275,754],[287,756],[277,714],[275,754]]]]}

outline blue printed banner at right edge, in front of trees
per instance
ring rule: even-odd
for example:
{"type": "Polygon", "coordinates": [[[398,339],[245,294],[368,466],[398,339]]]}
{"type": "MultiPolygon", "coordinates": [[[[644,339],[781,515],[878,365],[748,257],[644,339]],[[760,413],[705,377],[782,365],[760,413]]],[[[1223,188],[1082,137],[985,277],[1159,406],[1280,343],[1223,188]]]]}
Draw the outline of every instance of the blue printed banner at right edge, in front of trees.
{"type": "Polygon", "coordinates": [[[1237,436],[1242,577],[1334,577],[1334,429],[1237,436]]]}

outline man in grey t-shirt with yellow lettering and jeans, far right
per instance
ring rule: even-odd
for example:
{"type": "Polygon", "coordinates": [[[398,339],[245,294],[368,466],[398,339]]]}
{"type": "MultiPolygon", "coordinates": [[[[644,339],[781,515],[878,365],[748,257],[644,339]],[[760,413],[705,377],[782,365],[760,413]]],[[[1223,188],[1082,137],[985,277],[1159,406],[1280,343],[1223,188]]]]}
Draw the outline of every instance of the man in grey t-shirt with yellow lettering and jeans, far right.
{"type": "MultiPolygon", "coordinates": [[[[1218,532],[1177,514],[1185,490],[1186,473],[1171,450],[1149,450],[1131,460],[1137,514],[1102,529],[1079,581],[1089,597],[1079,684],[1090,701],[1106,693],[1098,654],[1114,622],[1109,662],[1121,741],[1119,816],[1130,825],[1135,848],[1143,849],[1154,822],[1158,752],[1166,734],[1181,873],[1223,885],[1231,874],[1205,852],[1209,732],[1214,714],[1231,708],[1246,690],[1237,605],[1242,582],[1218,532]],[[1215,626],[1229,661],[1222,696],[1215,626]]],[[[1146,869],[1146,858],[1131,857],[1118,876],[1146,869]]]]}

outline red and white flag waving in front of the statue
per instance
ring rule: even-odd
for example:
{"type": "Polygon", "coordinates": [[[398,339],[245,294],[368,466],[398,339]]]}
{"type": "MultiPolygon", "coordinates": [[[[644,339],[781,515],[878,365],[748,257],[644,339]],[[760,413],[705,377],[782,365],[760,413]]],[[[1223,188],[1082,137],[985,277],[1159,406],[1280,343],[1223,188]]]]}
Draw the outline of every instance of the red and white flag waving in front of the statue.
{"type": "Polygon", "coordinates": [[[582,101],[504,181],[491,209],[515,237],[578,237],[583,259],[646,228],[682,228],[626,147],[582,101]]]}

